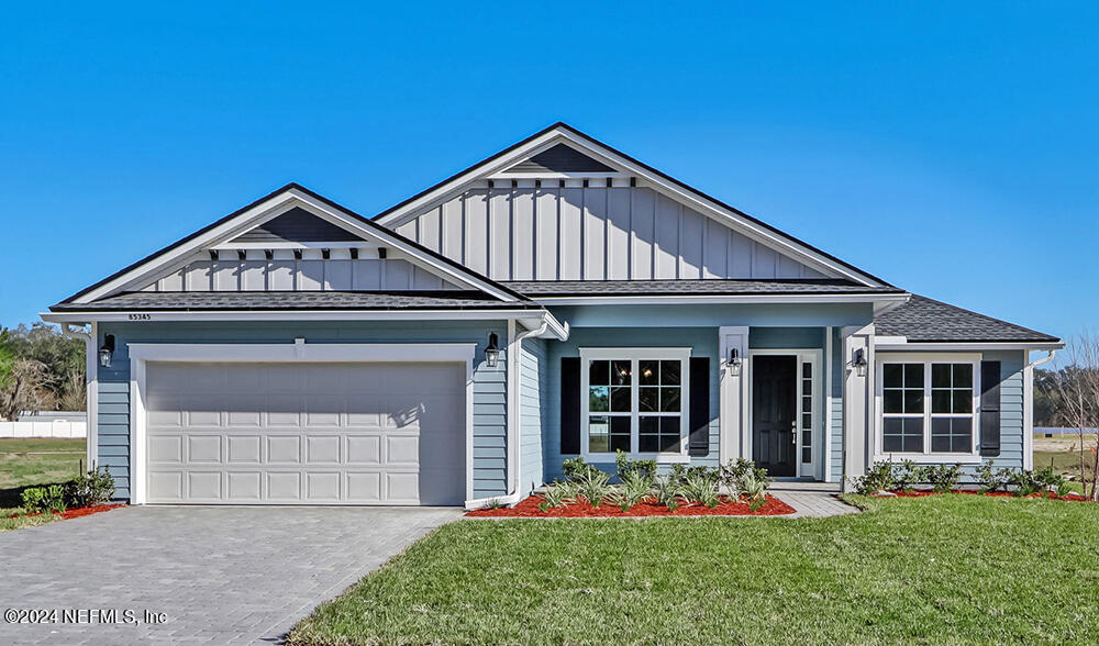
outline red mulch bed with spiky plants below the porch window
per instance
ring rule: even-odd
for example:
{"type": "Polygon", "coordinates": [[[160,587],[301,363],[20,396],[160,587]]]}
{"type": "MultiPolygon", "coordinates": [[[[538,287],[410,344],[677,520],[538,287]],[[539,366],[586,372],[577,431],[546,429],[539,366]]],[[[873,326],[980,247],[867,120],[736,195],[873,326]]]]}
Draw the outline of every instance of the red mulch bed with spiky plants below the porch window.
{"type": "Polygon", "coordinates": [[[553,508],[546,511],[539,509],[542,504],[541,495],[531,495],[519,502],[513,508],[480,509],[467,512],[467,516],[490,517],[490,519],[614,519],[614,517],[645,517],[645,516],[780,516],[792,514],[793,508],[777,498],[767,497],[767,501],[752,511],[747,502],[741,500],[730,500],[721,497],[721,504],[710,509],[701,504],[684,503],[676,511],[668,511],[663,504],[657,504],[653,499],[639,502],[623,512],[621,508],[613,504],[603,503],[598,508],[592,508],[587,501],[571,502],[564,508],[553,508]]]}

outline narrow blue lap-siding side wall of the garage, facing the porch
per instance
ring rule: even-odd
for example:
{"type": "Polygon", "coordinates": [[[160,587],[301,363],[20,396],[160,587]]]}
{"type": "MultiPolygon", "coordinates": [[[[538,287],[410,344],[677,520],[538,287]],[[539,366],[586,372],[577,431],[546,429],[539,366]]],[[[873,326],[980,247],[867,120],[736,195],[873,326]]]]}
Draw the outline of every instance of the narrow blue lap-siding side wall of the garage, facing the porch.
{"type": "Polygon", "coordinates": [[[522,342],[519,388],[519,492],[530,493],[545,479],[542,470],[542,435],[546,430],[546,402],[542,394],[546,382],[546,342],[528,338],[522,342]]]}

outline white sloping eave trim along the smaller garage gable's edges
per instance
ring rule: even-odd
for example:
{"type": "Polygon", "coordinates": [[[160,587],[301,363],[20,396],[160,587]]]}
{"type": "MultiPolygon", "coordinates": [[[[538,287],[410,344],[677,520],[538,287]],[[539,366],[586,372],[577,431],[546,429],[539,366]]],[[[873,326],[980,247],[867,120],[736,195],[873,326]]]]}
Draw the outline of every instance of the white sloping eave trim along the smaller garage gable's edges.
{"type": "MultiPolygon", "coordinates": [[[[198,232],[134,263],[121,271],[88,287],[63,303],[84,304],[123,291],[134,291],[144,287],[166,271],[186,264],[202,249],[234,247],[236,236],[278,218],[291,209],[301,208],[311,214],[363,236],[364,243],[377,241],[404,254],[409,261],[443,276],[458,285],[477,289],[499,299],[501,302],[521,302],[528,299],[498,282],[490,280],[462,265],[423,247],[385,226],[359,215],[349,209],[323,198],[296,183],[287,185],[260,198],[247,207],[230,213],[225,218],[198,232]]],[[[276,245],[277,246],[277,245],[276,245]]],[[[265,247],[270,248],[267,244],[265,247]]]]}

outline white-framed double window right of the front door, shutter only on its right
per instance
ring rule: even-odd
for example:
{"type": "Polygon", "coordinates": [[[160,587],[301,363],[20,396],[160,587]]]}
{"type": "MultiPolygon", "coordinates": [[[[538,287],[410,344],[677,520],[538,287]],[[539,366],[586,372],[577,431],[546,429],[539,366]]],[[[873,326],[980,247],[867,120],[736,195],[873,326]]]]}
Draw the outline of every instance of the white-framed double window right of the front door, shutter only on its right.
{"type": "Polygon", "coordinates": [[[878,454],[974,455],[979,357],[891,356],[878,360],[878,454]]]}

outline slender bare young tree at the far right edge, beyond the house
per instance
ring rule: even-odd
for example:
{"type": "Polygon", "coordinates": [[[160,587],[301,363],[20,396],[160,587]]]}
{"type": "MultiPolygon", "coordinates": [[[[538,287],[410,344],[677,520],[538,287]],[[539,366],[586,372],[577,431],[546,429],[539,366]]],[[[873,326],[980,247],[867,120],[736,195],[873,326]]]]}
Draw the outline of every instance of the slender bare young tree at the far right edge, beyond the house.
{"type": "Polygon", "coordinates": [[[1048,388],[1055,420],[1069,428],[1076,428],[1080,437],[1080,479],[1084,493],[1091,500],[1099,500],[1099,433],[1091,437],[1091,430],[1099,427],[1099,334],[1081,333],[1068,344],[1064,355],[1068,366],[1050,378],[1048,388]],[[1090,455],[1089,455],[1090,454],[1090,455]],[[1091,490],[1088,491],[1086,464],[1090,461],[1091,490]]]}

